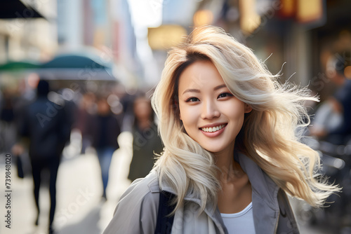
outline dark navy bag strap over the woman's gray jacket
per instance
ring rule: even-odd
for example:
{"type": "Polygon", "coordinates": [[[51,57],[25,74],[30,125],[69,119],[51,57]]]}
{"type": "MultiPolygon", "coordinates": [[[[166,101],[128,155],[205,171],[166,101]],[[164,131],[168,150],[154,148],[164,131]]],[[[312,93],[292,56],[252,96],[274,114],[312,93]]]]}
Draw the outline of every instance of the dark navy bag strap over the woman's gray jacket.
{"type": "Polygon", "coordinates": [[[176,205],[171,205],[171,200],[174,198],[172,193],[166,191],[159,192],[159,212],[157,213],[157,223],[154,234],[171,234],[174,214],[171,214],[176,205]]]}

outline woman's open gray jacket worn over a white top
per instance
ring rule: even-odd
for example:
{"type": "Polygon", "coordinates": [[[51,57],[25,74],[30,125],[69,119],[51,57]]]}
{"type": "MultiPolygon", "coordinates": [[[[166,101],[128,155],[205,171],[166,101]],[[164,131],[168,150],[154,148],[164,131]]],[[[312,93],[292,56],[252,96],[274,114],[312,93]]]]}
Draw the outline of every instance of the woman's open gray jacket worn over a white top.
{"type": "MultiPolygon", "coordinates": [[[[256,233],[299,233],[286,193],[253,160],[243,154],[236,154],[234,158],[251,182],[256,233]]],[[[163,190],[175,193],[169,186],[164,186],[163,190]]],[[[121,196],[112,221],[103,234],[154,233],[159,192],[157,172],[152,171],[144,179],[134,181],[121,196]]],[[[185,200],[185,205],[177,209],[174,216],[172,234],[227,234],[218,209],[213,212],[211,205],[207,205],[205,211],[199,214],[200,200],[191,195],[185,200]]]]}

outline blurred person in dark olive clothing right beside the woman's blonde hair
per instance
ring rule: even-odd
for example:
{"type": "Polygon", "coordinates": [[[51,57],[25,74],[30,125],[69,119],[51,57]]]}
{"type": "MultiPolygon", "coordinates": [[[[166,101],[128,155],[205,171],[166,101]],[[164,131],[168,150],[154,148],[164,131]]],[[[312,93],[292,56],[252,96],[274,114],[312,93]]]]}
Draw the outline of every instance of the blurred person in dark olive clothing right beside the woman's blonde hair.
{"type": "Polygon", "coordinates": [[[133,158],[128,174],[131,181],[146,177],[154,166],[155,153],[162,151],[150,99],[137,97],[133,103],[133,112],[133,158]]]}

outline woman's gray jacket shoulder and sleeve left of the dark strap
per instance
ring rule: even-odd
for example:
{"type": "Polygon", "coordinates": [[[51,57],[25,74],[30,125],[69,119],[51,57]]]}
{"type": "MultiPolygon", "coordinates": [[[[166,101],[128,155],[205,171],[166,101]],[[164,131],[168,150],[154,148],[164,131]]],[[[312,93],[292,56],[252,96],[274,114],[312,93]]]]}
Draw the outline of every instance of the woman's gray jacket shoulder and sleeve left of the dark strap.
{"type": "Polygon", "coordinates": [[[159,207],[157,172],[136,179],[124,192],[107,226],[107,233],[153,233],[159,207]]]}

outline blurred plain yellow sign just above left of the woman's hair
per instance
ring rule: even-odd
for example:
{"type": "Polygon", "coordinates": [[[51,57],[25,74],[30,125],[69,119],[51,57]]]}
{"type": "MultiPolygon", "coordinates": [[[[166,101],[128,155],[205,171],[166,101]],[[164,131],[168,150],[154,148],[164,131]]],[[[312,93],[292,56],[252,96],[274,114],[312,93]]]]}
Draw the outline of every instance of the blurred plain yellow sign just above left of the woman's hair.
{"type": "Polygon", "coordinates": [[[150,27],[147,33],[152,50],[167,50],[185,41],[187,30],[180,25],[161,25],[150,27]]]}

